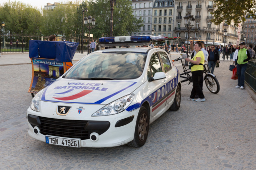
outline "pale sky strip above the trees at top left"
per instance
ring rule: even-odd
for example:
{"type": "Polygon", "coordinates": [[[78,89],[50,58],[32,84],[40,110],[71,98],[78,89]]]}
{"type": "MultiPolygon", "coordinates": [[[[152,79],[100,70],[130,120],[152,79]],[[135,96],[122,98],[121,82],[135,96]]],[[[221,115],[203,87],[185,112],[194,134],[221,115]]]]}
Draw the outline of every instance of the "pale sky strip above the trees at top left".
{"type": "MultiPolygon", "coordinates": [[[[54,3],[67,3],[67,2],[76,2],[74,0],[69,0],[69,1],[65,1],[65,0],[10,0],[11,2],[22,2],[24,4],[29,4],[32,7],[37,7],[38,10],[40,10],[41,8],[43,8],[44,6],[47,5],[47,3],[50,4],[54,4],[54,3]]],[[[3,3],[9,2],[9,0],[1,0],[0,4],[3,5],[3,3]]]]}

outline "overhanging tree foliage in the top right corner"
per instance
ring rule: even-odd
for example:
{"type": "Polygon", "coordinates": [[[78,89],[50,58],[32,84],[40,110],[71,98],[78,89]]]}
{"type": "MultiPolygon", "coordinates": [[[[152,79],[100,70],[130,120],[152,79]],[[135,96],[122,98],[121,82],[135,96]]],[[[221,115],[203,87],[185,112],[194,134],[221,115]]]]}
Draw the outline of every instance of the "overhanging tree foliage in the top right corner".
{"type": "Polygon", "coordinates": [[[226,21],[228,25],[234,21],[238,26],[239,23],[245,21],[245,17],[256,19],[256,1],[255,0],[215,0],[216,10],[212,13],[215,25],[226,21]]]}

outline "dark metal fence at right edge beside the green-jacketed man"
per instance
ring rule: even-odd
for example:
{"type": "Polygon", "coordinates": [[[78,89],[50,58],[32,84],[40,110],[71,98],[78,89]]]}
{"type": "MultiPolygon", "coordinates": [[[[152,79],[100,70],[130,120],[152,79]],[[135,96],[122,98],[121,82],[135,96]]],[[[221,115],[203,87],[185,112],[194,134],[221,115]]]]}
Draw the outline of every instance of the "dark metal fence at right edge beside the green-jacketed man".
{"type": "Polygon", "coordinates": [[[248,61],[245,71],[245,82],[247,82],[256,93],[256,59],[248,61]]]}

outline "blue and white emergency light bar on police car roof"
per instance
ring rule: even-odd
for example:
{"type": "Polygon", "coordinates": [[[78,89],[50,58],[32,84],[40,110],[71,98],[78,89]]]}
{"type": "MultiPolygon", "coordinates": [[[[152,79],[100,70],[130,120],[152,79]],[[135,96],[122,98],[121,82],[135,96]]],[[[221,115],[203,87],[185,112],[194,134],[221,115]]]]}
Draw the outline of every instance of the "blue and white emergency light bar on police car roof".
{"type": "Polygon", "coordinates": [[[99,39],[101,47],[112,46],[131,46],[131,45],[149,45],[150,36],[121,36],[121,37],[102,37],[99,39]]]}

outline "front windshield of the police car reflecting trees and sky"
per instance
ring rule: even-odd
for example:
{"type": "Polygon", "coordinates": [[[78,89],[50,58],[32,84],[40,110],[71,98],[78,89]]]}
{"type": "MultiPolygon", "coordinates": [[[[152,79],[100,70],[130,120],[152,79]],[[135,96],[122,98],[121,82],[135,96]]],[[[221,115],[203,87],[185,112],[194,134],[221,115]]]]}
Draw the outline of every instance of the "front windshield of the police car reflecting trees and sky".
{"type": "Polygon", "coordinates": [[[102,52],[92,53],[70,68],[69,79],[135,79],[143,71],[146,53],[102,52]]]}

